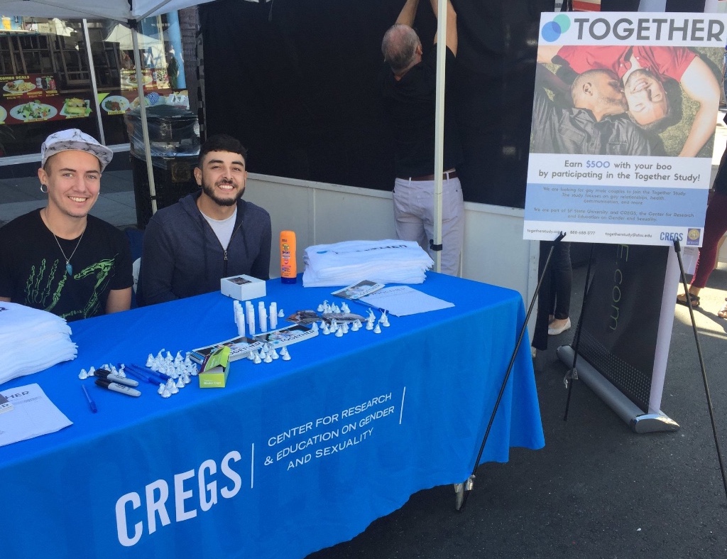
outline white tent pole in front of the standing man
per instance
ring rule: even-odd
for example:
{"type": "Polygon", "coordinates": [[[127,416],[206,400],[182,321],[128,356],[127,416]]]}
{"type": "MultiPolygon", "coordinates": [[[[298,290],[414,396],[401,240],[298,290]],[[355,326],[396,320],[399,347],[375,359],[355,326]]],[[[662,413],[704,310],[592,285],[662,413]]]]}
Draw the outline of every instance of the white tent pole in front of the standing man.
{"type": "MultiPolygon", "coordinates": [[[[444,76],[446,65],[447,1],[437,0],[437,90],[434,110],[434,239],[442,244],[442,175],[444,174],[444,76]]],[[[442,252],[434,251],[434,269],[441,271],[442,252]]]]}

